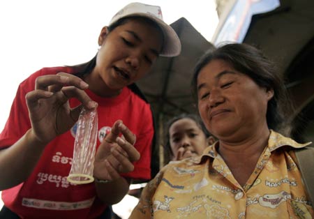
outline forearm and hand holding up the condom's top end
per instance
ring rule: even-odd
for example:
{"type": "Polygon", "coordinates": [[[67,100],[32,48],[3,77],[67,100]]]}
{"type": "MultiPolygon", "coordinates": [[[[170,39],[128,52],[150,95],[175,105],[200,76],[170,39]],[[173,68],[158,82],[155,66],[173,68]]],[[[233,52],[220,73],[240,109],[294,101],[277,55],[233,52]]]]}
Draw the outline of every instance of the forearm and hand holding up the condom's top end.
{"type": "Polygon", "coordinates": [[[15,144],[0,151],[0,190],[25,181],[45,146],[73,126],[83,106],[95,107],[96,103],[82,91],[87,86],[80,78],[65,73],[38,77],[35,90],[25,97],[31,128],[15,144]],[[68,98],[77,98],[82,105],[71,109],[68,98]]]}

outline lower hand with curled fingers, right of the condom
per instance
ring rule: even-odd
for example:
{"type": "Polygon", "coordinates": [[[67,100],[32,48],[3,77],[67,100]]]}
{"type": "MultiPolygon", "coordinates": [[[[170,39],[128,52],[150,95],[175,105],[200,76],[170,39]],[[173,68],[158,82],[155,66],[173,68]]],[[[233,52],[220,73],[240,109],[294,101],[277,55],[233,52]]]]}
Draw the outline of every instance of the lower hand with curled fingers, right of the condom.
{"type": "Polygon", "coordinates": [[[133,162],[140,159],[140,153],[133,146],[135,141],[135,135],[124,123],[116,121],[96,151],[94,177],[114,181],[121,177],[119,173],[133,171],[133,162]]]}

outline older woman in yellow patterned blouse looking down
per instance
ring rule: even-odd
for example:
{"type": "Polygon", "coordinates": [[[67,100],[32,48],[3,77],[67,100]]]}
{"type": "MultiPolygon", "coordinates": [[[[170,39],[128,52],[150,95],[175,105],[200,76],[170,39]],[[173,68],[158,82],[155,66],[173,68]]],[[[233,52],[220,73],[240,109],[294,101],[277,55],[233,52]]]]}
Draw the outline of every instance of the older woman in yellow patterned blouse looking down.
{"type": "Polygon", "coordinates": [[[193,93],[218,141],[200,157],[163,167],[131,219],[313,218],[296,159],[311,142],[279,133],[290,128],[290,104],[275,69],[246,44],[222,45],[200,58],[193,93]]]}

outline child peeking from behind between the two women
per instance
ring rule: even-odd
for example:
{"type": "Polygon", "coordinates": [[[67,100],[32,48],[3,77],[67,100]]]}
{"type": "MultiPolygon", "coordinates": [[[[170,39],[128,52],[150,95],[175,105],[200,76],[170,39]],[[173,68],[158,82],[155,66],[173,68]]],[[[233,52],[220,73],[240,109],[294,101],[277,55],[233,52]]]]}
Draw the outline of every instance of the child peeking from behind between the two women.
{"type": "Polygon", "coordinates": [[[170,160],[200,156],[215,141],[196,114],[174,116],[167,122],[165,130],[165,164],[170,160]]]}

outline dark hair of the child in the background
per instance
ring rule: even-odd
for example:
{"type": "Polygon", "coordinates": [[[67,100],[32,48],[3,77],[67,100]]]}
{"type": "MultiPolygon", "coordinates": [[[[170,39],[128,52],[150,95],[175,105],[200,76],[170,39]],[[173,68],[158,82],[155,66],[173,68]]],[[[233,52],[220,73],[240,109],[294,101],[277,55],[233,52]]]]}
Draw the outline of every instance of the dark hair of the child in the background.
{"type": "Polygon", "coordinates": [[[174,116],[172,117],[172,119],[170,119],[169,121],[167,121],[167,123],[165,124],[165,132],[164,132],[164,140],[163,140],[163,149],[164,149],[164,163],[167,164],[170,162],[172,156],[174,156],[174,154],[172,153],[172,149],[170,146],[170,127],[172,126],[172,124],[180,119],[192,119],[193,121],[195,121],[196,125],[202,130],[202,132],[205,134],[206,137],[209,137],[210,134],[208,132],[208,130],[205,128],[204,123],[202,122],[202,119],[200,119],[200,116],[198,116],[197,114],[179,114],[178,116],[174,116]]]}

